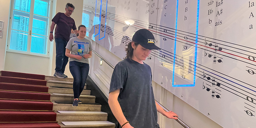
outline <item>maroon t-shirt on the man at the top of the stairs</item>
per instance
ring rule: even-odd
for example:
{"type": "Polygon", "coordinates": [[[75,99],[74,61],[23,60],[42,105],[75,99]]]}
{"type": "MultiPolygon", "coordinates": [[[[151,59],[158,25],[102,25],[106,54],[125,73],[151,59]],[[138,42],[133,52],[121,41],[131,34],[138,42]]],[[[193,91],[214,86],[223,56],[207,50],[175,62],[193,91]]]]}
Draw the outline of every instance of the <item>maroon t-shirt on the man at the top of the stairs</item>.
{"type": "Polygon", "coordinates": [[[52,18],[52,21],[56,23],[54,38],[62,38],[66,41],[69,41],[71,28],[73,30],[76,30],[76,24],[74,19],[71,17],[67,17],[62,12],[58,12],[52,18]]]}

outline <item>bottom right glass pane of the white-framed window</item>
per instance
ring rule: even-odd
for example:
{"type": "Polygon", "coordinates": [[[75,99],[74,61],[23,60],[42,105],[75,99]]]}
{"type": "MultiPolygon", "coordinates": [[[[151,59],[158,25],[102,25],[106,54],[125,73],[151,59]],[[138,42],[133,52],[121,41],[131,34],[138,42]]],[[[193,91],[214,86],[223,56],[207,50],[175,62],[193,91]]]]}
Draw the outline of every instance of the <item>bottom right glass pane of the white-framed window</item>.
{"type": "Polygon", "coordinates": [[[47,40],[47,37],[45,37],[45,36],[32,34],[30,52],[46,55],[46,49],[47,49],[47,41],[46,40],[47,40]]]}

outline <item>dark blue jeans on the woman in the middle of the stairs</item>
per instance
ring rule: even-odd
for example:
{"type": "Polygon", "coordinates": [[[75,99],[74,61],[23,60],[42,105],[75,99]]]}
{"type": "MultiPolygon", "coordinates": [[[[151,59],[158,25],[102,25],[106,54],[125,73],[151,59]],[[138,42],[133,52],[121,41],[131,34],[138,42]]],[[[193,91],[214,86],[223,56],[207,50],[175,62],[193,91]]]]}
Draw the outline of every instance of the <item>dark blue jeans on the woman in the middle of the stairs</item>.
{"type": "Polygon", "coordinates": [[[74,99],[79,98],[84,89],[85,82],[89,73],[89,64],[71,61],[69,62],[69,70],[74,78],[73,92],[74,99]]]}

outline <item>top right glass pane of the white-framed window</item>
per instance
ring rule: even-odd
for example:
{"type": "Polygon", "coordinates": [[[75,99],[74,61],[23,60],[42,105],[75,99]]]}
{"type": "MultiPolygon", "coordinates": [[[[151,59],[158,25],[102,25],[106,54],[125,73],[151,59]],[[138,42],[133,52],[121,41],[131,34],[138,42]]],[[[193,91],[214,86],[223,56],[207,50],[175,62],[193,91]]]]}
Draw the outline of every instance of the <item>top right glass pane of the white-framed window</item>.
{"type": "Polygon", "coordinates": [[[48,17],[48,2],[35,0],[34,14],[48,17]]]}

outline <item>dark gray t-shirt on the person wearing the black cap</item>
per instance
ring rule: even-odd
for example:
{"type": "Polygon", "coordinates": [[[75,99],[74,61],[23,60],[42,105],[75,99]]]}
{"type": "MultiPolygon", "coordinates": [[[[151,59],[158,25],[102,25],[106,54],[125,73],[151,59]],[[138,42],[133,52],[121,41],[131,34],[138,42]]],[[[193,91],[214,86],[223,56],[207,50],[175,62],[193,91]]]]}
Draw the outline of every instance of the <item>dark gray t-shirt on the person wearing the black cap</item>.
{"type": "Polygon", "coordinates": [[[112,74],[109,93],[118,89],[121,89],[118,102],[131,126],[159,128],[150,66],[130,59],[119,62],[112,74]]]}

